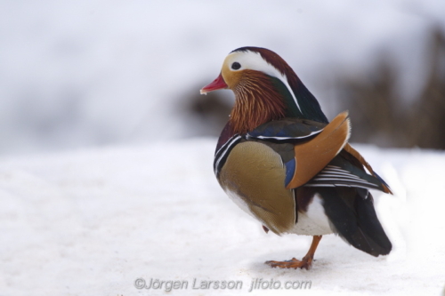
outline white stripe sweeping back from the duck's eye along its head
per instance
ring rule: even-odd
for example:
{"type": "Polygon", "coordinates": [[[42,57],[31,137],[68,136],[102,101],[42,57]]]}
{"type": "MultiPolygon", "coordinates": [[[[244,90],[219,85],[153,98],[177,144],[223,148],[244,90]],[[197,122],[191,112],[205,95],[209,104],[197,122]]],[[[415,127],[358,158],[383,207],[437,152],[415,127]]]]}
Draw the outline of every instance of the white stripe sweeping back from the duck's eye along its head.
{"type": "MultiPolygon", "coordinates": [[[[270,63],[263,59],[260,53],[258,52],[232,52],[226,58],[227,65],[231,71],[239,71],[244,69],[251,69],[255,71],[261,71],[269,76],[277,77],[283,84],[286,85],[287,90],[292,95],[292,98],[295,101],[296,107],[302,112],[300,105],[298,104],[298,100],[295,98],[295,94],[292,91],[289,83],[287,82],[287,76],[282,74],[277,68],[273,67],[270,63]],[[239,69],[232,69],[231,66],[233,63],[238,62],[241,66],[239,69]]],[[[303,112],[302,112],[303,114],[303,112]]]]}

